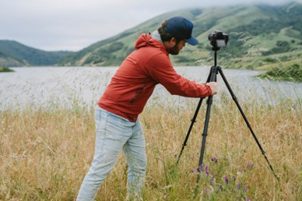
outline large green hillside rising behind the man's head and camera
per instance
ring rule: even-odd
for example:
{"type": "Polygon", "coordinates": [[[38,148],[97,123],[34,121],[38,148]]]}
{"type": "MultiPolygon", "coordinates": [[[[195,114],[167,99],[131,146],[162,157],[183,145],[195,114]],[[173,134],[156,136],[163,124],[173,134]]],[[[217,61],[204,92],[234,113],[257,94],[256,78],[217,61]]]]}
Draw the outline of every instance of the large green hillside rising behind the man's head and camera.
{"type": "Polygon", "coordinates": [[[264,69],[278,62],[301,63],[302,4],[236,5],[219,8],[177,10],[162,14],[136,27],[97,42],[62,58],[67,66],[118,66],[134,48],[137,37],[152,32],[170,16],[194,22],[196,47],[187,45],[174,65],[211,65],[213,52],[208,35],[216,29],[229,34],[228,46],[218,52],[219,64],[227,68],[264,69]]]}

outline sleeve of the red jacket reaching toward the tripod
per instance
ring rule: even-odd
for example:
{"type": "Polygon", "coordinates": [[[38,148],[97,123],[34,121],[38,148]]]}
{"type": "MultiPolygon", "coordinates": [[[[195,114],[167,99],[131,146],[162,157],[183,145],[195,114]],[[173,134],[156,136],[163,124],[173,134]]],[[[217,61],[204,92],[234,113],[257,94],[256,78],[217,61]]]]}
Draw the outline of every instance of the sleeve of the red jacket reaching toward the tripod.
{"type": "Polygon", "coordinates": [[[172,95],[184,97],[207,97],[211,88],[198,84],[176,73],[170,59],[165,54],[157,54],[150,58],[146,67],[153,80],[162,84],[172,95]]]}

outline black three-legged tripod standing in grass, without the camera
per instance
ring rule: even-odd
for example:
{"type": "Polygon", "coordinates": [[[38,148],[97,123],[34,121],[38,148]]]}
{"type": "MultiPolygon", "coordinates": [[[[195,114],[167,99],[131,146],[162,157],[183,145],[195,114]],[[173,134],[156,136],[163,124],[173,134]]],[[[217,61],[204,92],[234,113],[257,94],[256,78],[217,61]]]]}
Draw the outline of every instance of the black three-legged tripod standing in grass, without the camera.
{"type": "MultiPolygon", "coordinates": [[[[220,73],[220,75],[222,77],[222,80],[224,81],[224,84],[226,84],[226,86],[227,86],[227,88],[229,90],[229,93],[231,93],[233,101],[235,102],[237,108],[240,110],[240,113],[241,113],[242,117],[244,118],[244,121],[246,122],[246,125],[248,126],[249,130],[253,134],[253,137],[254,137],[254,139],[255,139],[255,141],[256,141],[259,149],[261,150],[262,154],[264,155],[264,158],[266,158],[266,161],[267,161],[270,169],[272,170],[272,173],[274,174],[275,178],[277,178],[277,180],[279,182],[279,178],[275,174],[275,171],[272,168],[272,165],[270,165],[270,161],[268,161],[268,158],[266,157],[266,154],[265,154],[264,150],[262,149],[262,146],[260,145],[260,143],[259,143],[259,141],[258,141],[258,139],[257,139],[257,137],[256,137],[256,135],[255,135],[255,133],[253,131],[253,129],[251,128],[250,123],[248,123],[248,119],[246,118],[246,115],[244,115],[244,112],[243,112],[240,104],[237,102],[237,97],[234,95],[234,93],[233,93],[233,91],[231,89],[231,86],[227,82],[227,78],[225,78],[224,73],[222,72],[221,67],[217,66],[217,51],[220,49],[220,47],[212,47],[212,49],[215,52],[215,54],[214,54],[214,66],[211,67],[211,71],[209,73],[209,77],[207,78],[207,82],[216,82],[216,80],[217,80],[217,74],[220,73]]],[[[181,147],[181,152],[178,155],[178,159],[177,159],[176,165],[178,165],[179,160],[181,158],[181,154],[183,154],[183,150],[184,150],[185,146],[187,145],[187,140],[189,139],[189,134],[191,133],[191,129],[193,128],[194,123],[196,122],[198,111],[200,109],[200,106],[202,104],[202,100],[203,99],[204,98],[200,98],[200,101],[198,102],[198,106],[197,106],[196,111],[194,113],[194,117],[193,117],[193,119],[191,119],[191,125],[189,127],[188,132],[187,132],[187,136],[185,137],[185,141],[183,143],[183,146],[181,147]]],[[[209,119],[210,119],[211,105],[212,104],[213,104],[213,96],[209,96],[208,99],[207,99],[207,113],[206,113],[206,116],[205,116],[205,127],[204,127],[203,132],[202,132],[202,146],[201,146],[200,158],[199,158],[198,169],[197,169],[197,171],[198,171],[197,183],[200,180],[200,172],[201,172],[201,168],[202,168],[202,161],[203,161],[203,156],[205,154],[205,142],[206,142],[206,138],[207,138],[207,130],[208,130],[208,127],[209,127],[209,119]]]]}

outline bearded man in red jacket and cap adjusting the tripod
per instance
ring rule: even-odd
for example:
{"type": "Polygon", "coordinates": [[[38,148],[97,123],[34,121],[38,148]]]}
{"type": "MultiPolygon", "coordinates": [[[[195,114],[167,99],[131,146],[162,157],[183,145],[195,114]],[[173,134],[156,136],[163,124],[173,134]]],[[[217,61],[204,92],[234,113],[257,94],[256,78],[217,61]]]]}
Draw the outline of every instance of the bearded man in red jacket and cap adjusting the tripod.
{"type": "Polygon", "coordinates": [[[152,34],[142,34],[122,62],[95,108],[95,155],[77,200],[94,200],[100,185],[123,150],[128,163],[127,194],[142,198],[146,173],[146,150],[138,115],[156,84],[172,95],[207,97],[218,91],[216,82],[200,84],[176,73],[169,54],[177,55],[185,43],[197,45],[191,36],[191,21],[176,16],[163,22],[152,34]]]}

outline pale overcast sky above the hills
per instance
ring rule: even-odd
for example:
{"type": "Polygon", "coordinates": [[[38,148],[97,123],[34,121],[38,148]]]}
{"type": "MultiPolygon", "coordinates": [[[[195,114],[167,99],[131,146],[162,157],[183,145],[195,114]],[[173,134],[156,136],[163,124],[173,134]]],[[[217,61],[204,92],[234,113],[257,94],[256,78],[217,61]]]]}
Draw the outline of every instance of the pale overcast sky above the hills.
{"type": "Polygon", "coordinates": [[[45,51],[78,51],[172,10],[291,1],[0,0],[0,40],[16,40],[45,51]]]}

